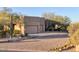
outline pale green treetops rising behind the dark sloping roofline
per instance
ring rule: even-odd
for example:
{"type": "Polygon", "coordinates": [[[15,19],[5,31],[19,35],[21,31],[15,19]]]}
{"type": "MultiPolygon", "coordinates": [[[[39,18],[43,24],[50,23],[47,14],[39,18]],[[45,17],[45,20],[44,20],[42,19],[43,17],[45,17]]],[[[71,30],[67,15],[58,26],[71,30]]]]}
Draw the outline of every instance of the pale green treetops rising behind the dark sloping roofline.
{"type": "Polygon", "coordinates": [[[53,20],[62,24],[70,24],[70,18],[68,16],[61,16],[61,15],[56,15],[55,13],[43,13],[42,15],[44,18],[53,20]]]}

